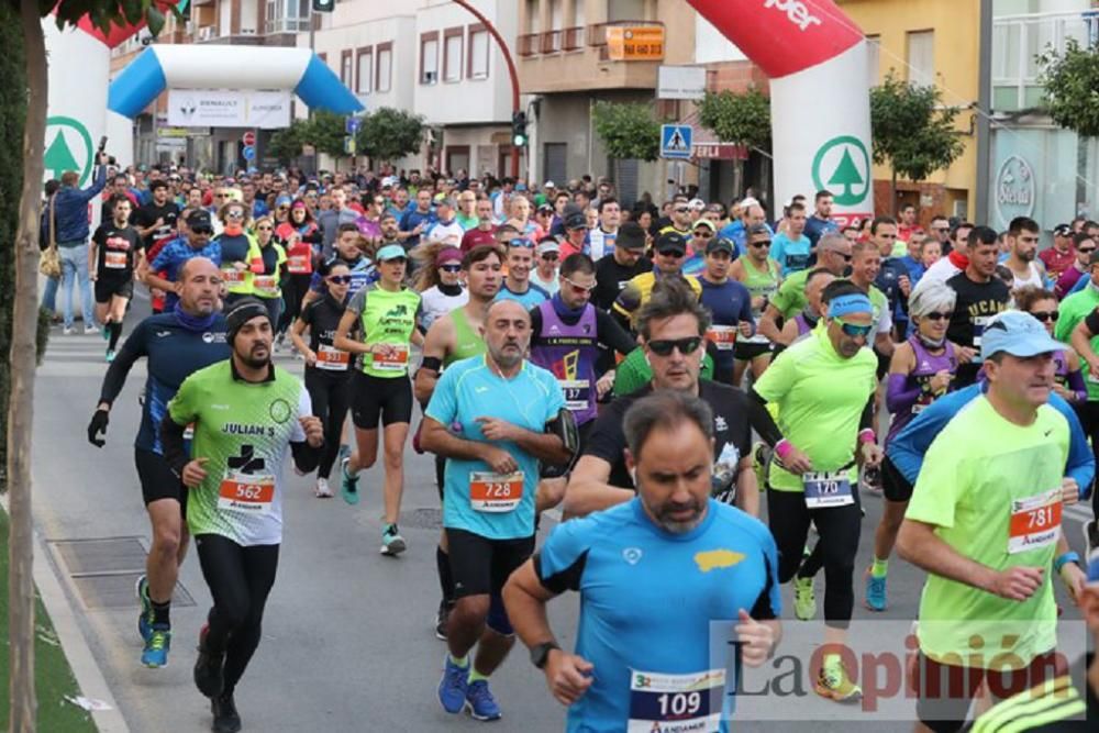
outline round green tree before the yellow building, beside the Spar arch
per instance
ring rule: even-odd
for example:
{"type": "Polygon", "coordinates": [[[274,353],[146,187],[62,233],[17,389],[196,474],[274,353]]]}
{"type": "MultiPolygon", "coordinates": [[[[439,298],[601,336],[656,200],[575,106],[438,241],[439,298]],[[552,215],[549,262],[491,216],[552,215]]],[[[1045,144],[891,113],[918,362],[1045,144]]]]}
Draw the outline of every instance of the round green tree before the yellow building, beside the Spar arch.
{"type": "Polygon", "coordinates": [[[890,206],[897,201],[898,176],[923,180],[965,151],[962,133],[954,129],[957,114],[957,108],[943,107],[942,93],[933,85],[903,81],[891,70],[870,90],[874,162],[888,163],[892,170],[890,206]]]}

